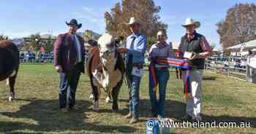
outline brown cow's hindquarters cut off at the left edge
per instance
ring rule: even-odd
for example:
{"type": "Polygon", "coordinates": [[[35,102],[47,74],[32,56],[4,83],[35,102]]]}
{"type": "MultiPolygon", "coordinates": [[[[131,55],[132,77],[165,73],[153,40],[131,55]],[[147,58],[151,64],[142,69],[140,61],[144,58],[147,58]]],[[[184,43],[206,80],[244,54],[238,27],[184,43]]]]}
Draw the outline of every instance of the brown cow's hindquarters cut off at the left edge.
{"type": "Polygon", "coordinates": [[[15,99],[15,79],[19,67],[18,47],[10,41],[0,41],[0,81],[7,79],[10,86],[9,101],[15,99]]]}

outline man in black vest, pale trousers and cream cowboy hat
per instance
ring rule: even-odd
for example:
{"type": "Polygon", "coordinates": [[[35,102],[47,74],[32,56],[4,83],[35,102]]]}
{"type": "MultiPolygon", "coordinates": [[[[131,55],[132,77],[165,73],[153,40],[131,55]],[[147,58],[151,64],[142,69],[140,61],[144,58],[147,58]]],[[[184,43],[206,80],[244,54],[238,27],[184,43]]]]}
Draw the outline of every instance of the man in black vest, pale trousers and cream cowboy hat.
{"type": "MultiPolygon", "coordinates": [[[[181,37],[181,44],[178,47],[179,56],[187,58],[192,69],[189,75],[192,95],[187,98],[187,114],[184,120],[201,121],[203,67],[205,58],[211,53],[211,47],[206,41],[206,37],[195,31],[200,27],[198,21],[187,18],[186,23],[182,26],[186,28],[186,34],[181,37]]],[[[183,71],[183,76],[185,74],[183,71]]]]}

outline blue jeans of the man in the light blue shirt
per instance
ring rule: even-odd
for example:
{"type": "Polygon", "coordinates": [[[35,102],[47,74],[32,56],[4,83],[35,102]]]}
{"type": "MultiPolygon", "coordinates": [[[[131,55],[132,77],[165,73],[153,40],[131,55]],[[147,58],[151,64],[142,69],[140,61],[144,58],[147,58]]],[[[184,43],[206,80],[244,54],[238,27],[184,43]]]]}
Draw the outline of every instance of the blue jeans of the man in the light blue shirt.
{"type": "Polygon", "coordinates": [[[129,85],[129,111],[132,117],[138,117],[138,104],[140,100],[140,76],[128,75],[129,85]]]}

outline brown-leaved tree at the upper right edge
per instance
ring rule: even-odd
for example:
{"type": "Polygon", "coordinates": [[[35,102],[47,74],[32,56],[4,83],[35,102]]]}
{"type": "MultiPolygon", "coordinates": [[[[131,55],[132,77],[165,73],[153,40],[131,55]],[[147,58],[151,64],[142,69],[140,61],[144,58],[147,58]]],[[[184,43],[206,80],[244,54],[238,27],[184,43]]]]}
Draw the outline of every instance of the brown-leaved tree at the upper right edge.
{"type": "Polygon", "coordinates": [[[227,11],[225,20],[217,23],[223,48],[256,39],[256,5],[236,4],[227,11]]]}

